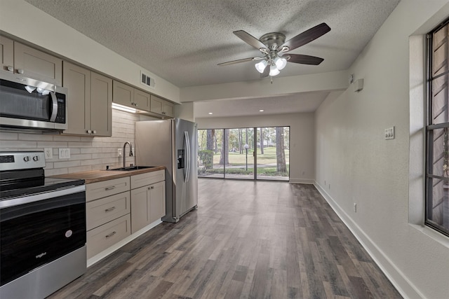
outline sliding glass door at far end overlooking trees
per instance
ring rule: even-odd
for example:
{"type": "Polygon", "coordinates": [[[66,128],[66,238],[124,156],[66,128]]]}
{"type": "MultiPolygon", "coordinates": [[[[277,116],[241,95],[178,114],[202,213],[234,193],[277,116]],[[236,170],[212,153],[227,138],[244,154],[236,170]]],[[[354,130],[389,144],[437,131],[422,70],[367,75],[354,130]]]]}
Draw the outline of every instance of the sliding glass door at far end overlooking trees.
{"type": "Polygon", "coordinates": [[[198,175],[288,181],[290,127],[198,130],[198,175]]]}

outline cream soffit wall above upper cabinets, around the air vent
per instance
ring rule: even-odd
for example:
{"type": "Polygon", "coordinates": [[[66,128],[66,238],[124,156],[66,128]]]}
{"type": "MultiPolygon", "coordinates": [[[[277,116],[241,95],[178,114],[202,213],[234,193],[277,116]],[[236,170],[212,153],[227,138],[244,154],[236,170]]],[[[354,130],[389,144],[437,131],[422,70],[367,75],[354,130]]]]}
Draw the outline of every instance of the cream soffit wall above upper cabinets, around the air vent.
{"type": "Polygon", "coordinates": [[[24,0],[0,0],[0,30],[107,76],[170,101],[180,102],[180,89],[175,85],[89,39],[24,0]],[[140,84],[141,70],[147,71],[147,74],[155,79],[156,89],[140,84]]]}

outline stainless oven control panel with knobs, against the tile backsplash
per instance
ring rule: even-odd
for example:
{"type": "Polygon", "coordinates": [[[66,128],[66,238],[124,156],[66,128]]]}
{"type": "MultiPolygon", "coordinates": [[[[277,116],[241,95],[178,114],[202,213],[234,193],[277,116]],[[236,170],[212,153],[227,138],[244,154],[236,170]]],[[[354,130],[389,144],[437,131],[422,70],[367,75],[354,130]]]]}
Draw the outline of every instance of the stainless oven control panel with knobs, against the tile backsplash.
{"type": "Polygon", "coordinates": [[[43,151],[0,152],[0,171],[45,167],[43,151]]]}

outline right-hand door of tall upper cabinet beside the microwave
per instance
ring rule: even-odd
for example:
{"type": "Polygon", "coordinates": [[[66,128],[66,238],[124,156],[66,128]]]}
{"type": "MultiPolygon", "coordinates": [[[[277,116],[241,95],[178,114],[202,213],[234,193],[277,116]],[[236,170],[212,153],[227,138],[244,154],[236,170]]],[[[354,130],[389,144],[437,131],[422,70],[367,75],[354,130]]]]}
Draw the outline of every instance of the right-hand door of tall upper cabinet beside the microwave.
{"type": "Polygon", "coordinates": [[[112,136],[112,79],[91,73],[91,131],[112,136]]]}

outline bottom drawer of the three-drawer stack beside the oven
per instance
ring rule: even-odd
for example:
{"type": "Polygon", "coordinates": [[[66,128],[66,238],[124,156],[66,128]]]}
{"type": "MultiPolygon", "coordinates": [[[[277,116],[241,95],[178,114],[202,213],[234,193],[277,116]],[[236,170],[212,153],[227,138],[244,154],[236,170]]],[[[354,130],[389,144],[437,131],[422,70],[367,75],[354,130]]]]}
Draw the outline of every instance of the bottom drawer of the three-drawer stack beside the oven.
{"type": "Polygon", "coordinates": [[[98,228],[89,230],[87,232],[87,258],[95,256],[95,254],[128,237],[131,233],[130,223],[130,215],[127,214],[98,228]]]}

